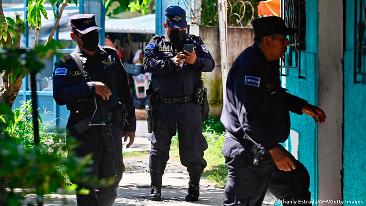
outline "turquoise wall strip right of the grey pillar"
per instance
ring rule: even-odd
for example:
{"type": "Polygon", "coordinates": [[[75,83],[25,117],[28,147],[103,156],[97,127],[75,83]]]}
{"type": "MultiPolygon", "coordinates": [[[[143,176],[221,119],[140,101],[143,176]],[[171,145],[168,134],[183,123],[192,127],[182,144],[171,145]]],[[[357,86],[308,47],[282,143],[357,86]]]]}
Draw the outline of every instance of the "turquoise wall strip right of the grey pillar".
{"type": "Polygon", "coordinates": [[[354,14],[355,0],[347,0],[346,51],[344,52],[343,199],[363,201],[361,205],[366,205],[366,84],[354,84],[354,14]]]}

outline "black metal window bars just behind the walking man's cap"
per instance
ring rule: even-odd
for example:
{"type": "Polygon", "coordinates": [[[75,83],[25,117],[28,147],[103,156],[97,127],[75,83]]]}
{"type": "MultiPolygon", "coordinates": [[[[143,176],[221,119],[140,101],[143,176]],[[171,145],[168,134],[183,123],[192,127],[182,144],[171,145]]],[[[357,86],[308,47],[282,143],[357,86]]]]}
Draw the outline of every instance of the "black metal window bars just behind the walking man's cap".
{"type": "Polygon", "coordinates": [[[298,70],[298,78],[305,78],[301,74],[301,51],[305,50],[306,39],[306,0],[281,0],[283,17],[286,26],[296,28],[295,34],[289,35],[290,46],[288,52],[280,59],[281,76],[288,76],[289,69],[298,70]]]}

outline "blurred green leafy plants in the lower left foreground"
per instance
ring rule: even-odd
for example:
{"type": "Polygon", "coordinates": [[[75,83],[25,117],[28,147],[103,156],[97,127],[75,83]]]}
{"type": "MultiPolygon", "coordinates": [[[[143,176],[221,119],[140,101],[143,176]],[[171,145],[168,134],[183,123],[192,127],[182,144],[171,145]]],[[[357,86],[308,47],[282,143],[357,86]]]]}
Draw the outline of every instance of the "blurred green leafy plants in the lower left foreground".
{"type": "MultiPolygon", "coordinates": [[[[22,106],[14,111],[0,103],[0,110],[0,179],[6,180],[5,187],[9,188],[0,197],[0,205],[24,203],[24,196],[29,193],[36,194],[38,201],[42,201],[44,195],[56,192],[59,188],[71,192],[77,185],[72,185],[70,180],[99,187],[111,185],[115,181],[88,176],[87,166],[93,163],[91,154],[83,158],[76,157],[72,152],[78,145],[76,140],[66,140],[65,134],[48,131],[51,122],[44,123],[40,119],[40,144],[35,146],[31,100],[22,102],[22,106]],[[15,188],[34,190],[16,192],[15,188]]],[[[79,192],[89,194],[83,188],[79,192]]]]}

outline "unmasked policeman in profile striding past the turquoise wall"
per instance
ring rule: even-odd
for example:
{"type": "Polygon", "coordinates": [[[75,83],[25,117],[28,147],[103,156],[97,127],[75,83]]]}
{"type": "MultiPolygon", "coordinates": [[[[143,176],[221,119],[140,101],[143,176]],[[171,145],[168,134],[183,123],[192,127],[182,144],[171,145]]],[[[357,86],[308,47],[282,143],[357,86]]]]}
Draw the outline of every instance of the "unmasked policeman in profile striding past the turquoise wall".
{"type": "Polygon", "coordinates": [[[267,188],[278,199],[310,201],[309,173],[279,142],[290,133],[289,111],[305,113],[320,124],[325,113],[280,86],[279,58],[289,45],[286,36],[296,30],[277,16],[256,19],[252,25],[255,43],[229,71],[221,114],[228,167],[223,205],[261,205],[267,188]]]}

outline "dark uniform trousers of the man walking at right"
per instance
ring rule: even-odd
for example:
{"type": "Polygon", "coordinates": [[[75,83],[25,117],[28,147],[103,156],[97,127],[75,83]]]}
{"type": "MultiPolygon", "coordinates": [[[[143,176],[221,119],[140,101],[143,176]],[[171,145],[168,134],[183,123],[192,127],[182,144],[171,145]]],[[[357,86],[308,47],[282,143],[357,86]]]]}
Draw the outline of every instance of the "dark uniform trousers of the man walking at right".
{"type": "Polygon", "coordinates": [[[310,201],[310,177],[302,163],[295,160],[296,169],[290,172],[279,170],[272,158],[261,159],[255,166],[249,147],[247,140],[225,137],[222,152],[228,179],[223,205],[261,206],[267,188],[278,199],[310,201]]]}

